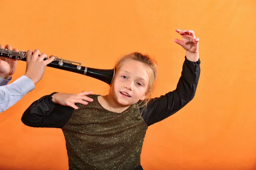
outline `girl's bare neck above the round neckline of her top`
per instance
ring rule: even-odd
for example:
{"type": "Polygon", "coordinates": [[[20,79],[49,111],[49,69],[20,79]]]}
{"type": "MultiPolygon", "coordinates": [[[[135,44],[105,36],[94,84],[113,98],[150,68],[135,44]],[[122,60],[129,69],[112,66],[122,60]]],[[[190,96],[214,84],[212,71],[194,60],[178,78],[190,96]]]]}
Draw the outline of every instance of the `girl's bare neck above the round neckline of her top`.
{"type": "Polygon", "coordinates": [[[113,97],[110,94],[105,96],[98,96],[98,101],[103,108],[107,109],[108,111],[112,111],[116,113],[122,113],[123,111],[125,111],[130,107],[130,106],[118,105],[118,103],[116,103],[116,101],[113,99],[113,97]]]}

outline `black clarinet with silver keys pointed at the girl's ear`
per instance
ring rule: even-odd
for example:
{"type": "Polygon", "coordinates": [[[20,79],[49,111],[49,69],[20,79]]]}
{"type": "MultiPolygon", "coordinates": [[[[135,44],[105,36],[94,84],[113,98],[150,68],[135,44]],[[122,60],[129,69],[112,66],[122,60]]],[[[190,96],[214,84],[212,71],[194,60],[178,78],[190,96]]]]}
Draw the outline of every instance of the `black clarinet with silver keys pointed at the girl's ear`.
{"type": "MultiPolygon", "coordinates": [[[[0,57],[6,57],[21,61],[26,61],[26,52],[25,51],[13,51],[8,49],[0,48],[0,57]]],[[[55,56],[50,56],[55,57],[55,56]]],[[[45,58],[46,60],[48,58],[45,58]]],[[[73,62],[70,60],[62,59],[55,57],[55,59],[47,65],[48,67],[58,68],[65,71],[71,71],[78,74],[83,74],[85,76],[93,77],[99,79],[109,85],[113,81],[116,69],[98,69],[98,68],[89,68],[81,66],[81,62],[73,62]]]]}

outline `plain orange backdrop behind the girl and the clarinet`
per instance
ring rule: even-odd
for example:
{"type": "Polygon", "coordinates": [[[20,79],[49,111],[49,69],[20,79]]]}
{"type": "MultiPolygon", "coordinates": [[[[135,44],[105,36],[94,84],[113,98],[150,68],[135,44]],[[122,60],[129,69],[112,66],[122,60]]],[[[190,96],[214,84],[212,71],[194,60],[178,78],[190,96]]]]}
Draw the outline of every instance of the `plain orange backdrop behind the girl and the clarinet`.
{"type": "MultiPolygon", "coordinates": [[[[122,54],[157,60],[155,96],[176,88],[185,51],[175,28],[200,38],[201,77],[195,98],[148,128],[145,170],[255,170],[254,0],[2,0],[0,44],[39,49],[92,68],[112,68],[122,54]]],[[[19,61],[13,80],[25,73],[19,61]]],[[[13,81],[12,81],[13,82],[13,81]]],[[[0,169],[67,170],[61,129],[32,128],[20,118],[54,91],[106,94],[97,79],[47,67],[36,88],[0,113],[0,169]]]]}

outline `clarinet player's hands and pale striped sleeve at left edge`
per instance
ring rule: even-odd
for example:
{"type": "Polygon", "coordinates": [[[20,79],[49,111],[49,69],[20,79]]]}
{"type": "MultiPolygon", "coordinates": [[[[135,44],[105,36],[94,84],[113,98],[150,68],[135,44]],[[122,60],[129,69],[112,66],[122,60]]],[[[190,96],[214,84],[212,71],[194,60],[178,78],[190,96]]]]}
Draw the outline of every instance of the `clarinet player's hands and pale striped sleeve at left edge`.
{"type": "MultiPolygon", "coordinates": [[[[5,51],[17,53],[17,49],[12,49],[11,45],[6,45],[3,51],[3,45],[0,45],[0,54],[3,56],[5,51]]],[[[8,54],[9,54],[8,53],[8,54]]],[[[54,57],[46,59],[46,54],[40,54],[39,50],[34,52],[27,51],[26,54],[26,73],[15,82],[10,83],[12,75],[15,73],[17,60],[12,58],[0,57],[0,113],[12,107],[24,95],[35,88],[44,74],[47,64],[54,60],[54,57]]]]}

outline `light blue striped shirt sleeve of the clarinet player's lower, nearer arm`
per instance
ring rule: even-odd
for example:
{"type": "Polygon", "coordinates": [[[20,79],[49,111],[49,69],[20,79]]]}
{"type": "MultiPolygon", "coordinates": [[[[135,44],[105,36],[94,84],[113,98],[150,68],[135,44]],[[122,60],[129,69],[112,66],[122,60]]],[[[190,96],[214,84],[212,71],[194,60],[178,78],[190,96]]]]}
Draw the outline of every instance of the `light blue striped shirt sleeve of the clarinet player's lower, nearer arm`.
{"type": "Polygon", "coordinates": [[[34,88],[35,84],[26,76],[21,76],[9,85],[0,86],[0,113],[12,107],[34,88]]]}

